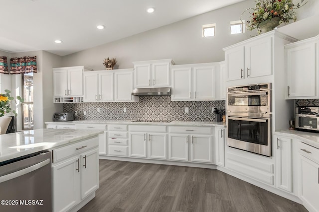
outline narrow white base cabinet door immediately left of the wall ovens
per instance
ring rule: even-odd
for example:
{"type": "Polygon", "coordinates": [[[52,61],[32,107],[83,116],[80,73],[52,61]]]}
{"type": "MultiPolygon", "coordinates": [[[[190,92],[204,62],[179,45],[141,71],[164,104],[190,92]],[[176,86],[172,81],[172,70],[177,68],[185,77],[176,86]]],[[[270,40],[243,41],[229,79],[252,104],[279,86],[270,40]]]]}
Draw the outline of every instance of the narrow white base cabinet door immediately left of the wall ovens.
{"type": "Polygon", "coordinates": [[[216,164],[225,166],[225,128],[215,129],[216,164]]]}

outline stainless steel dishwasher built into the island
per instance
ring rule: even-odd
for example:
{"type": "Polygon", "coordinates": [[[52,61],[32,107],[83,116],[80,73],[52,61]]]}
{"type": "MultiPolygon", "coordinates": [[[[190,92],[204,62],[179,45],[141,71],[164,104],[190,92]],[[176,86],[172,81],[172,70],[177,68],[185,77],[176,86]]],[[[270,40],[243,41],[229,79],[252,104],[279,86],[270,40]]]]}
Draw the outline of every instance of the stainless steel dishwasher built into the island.
{"type": "Polygon", "coordinates": [[[0,163],[0,212],[51,211],[51,152],[0,163]]]}

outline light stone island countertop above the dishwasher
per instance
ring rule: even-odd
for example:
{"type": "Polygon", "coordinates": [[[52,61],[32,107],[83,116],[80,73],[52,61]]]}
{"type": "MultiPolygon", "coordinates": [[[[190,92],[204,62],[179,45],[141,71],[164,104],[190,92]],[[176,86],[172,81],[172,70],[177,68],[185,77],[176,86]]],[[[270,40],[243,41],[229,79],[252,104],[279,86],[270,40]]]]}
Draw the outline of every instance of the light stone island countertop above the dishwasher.
{"type": "Polygon", "coordinates": [[[0,135],[0,162],[88,139],[99,130],[38,129],[0,135]]]}

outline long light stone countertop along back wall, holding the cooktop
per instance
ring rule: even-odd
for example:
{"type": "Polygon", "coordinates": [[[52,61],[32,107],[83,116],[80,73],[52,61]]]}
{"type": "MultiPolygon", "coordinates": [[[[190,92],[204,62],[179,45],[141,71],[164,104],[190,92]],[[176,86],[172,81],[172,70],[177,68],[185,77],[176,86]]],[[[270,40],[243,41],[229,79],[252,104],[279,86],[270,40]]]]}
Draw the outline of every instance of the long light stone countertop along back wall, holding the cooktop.
{"type": "Polygon", "coordinates": [[[80,120],[72,122],[45,122],[45,124],[133,124],[133,125],[171,125],[171,126],[206,126],[206,127],[226,127],[224,122],[206,121],[172,121],[172,122],[135,122],[135,120],[80,120]]]}

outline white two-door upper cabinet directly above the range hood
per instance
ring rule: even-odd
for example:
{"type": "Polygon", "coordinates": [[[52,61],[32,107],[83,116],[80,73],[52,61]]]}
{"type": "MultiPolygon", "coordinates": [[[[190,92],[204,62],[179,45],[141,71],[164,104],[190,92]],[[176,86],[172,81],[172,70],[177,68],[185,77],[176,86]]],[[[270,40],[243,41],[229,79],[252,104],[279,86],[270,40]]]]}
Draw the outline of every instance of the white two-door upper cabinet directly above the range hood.
{"type": "Polygon", "coordinates": [[[133,62],[134,87],[169,87],[171,59],[158,61],[133,62]]]}

